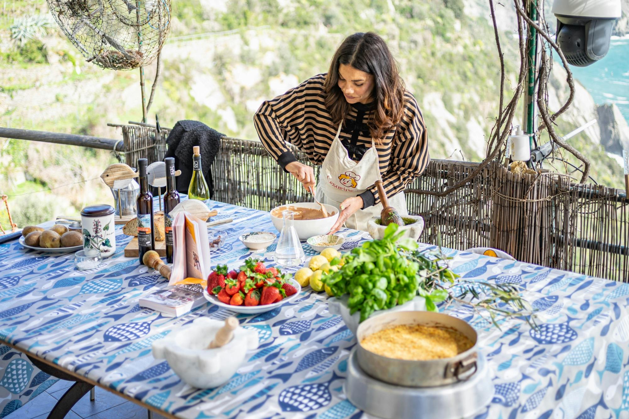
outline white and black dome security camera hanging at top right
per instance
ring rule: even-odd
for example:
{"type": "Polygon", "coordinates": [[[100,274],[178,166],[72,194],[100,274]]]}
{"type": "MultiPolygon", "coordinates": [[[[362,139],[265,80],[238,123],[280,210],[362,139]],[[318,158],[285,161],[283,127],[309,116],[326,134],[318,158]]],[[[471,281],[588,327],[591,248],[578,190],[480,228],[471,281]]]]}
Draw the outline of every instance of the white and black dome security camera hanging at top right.
{"type": "Polygon", "coordinates": [[[555,0],[556,42],[569,64],[576,67],[602,59],[610,50],[610,36],[620,18],[620,0],[555,0]]]}

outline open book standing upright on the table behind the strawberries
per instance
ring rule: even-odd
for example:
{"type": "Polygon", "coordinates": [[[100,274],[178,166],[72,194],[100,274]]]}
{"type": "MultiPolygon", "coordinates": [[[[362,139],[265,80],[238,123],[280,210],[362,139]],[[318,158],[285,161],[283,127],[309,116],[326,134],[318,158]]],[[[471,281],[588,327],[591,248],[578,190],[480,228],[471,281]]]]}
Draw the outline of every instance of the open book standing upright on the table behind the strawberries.
{"type": "Polygon", "coordinates": [[[206,223],[186,211],[175,215],[172,221],[172,238],[175,254],[169,285],[187,277],[208,279],[209,240],[206,223]]]}

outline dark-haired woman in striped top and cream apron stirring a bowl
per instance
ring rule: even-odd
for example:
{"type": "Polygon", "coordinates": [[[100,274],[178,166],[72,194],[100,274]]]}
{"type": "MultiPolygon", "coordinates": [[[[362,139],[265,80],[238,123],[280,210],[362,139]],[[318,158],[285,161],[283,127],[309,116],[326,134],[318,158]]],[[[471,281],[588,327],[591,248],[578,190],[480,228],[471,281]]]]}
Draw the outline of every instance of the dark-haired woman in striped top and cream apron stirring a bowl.
{"type": "Polygon", "coordinates": [[[327,74],[265,101],[253,120],[264,147],[307,190],[315,187],[315,173],[286,142],[323,165],[316,199],[341,210],[330,233],[343,224],[367,230],[382,210],[374,186],[380,179],[389,205],[406,214],[404,188],[430,160],[420,108],[373,32],[348,36],[327,74]]]}

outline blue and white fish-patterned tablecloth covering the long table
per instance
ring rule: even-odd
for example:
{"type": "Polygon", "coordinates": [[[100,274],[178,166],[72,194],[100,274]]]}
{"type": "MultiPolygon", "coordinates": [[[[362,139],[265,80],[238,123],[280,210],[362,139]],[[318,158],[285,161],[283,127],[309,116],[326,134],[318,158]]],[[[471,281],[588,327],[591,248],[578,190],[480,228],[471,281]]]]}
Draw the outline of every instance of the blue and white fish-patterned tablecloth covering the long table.
{"type": "MultiPolygon", "coordinates": [[[[228,237],[212,252],[212,264],[237,268],[251,255],[238,235],[274,227],[267,213],[214,205],[221,211],[217,218],[234,222],[215,228],[228,237]]],[[[0,245],[0,340],[181,418],[363,416],[343,394],[355,339],[341,318],[328,312],[325,294],[309,288],[281,308],[238,315],[243,327],[259,333],[260,347],[228,383],[206,390],[183,384],[167,362],[153,359],[152,342],[199,316],[223,319],[234,313],[209,303],[179,318],[140,308],[138,299],[166,281],[123,257],[130,238],[120,226],[116,231],[116,254],[92,271],[76,271],[71,254],[40,254],[17,241],[0,245]]],[[[348,237],[343,250],[369,239],[363,232],[343,234],[348,237]]],[[[274,249],[267,249],[267,260],[274,249]]],[[[316,254],[305,244],[304,250],[316,254]]],[[[538,330],[517,319],[501,322],[499,330],[467,306],[447,309],[479,332],[494,377],[494,398],[476,418],[623,416],[629,409],[629,284],[447,252],[462,277],[517,284],[539,312],[538,330]]],[[[49,377],[35,374],[23,358],[4,365],[0,386],[6,394],[19,389],[25,398],[49,377]]]]}

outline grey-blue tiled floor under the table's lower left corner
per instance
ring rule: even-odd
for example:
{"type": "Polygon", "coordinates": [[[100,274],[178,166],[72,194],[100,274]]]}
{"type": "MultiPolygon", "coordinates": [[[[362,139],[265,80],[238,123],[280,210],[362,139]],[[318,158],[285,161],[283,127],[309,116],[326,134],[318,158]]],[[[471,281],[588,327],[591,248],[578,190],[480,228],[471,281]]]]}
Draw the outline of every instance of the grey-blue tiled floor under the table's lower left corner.
{"type": "MultiPolygon", "coordinates": [[[[59,380],[45,393],[32,399],[18,410],[5,416],[4,419],[45,419],[48,413],[74,383],[59,380]]],[[[89,400],[87,393],[79,400],[65,419],[146,419],[146,408],[116,396],[107,390],[96,388],[96,400],[89,400]]],[[[153,413],[153,419],[164,419],[164,416],[153,413]]]]}

